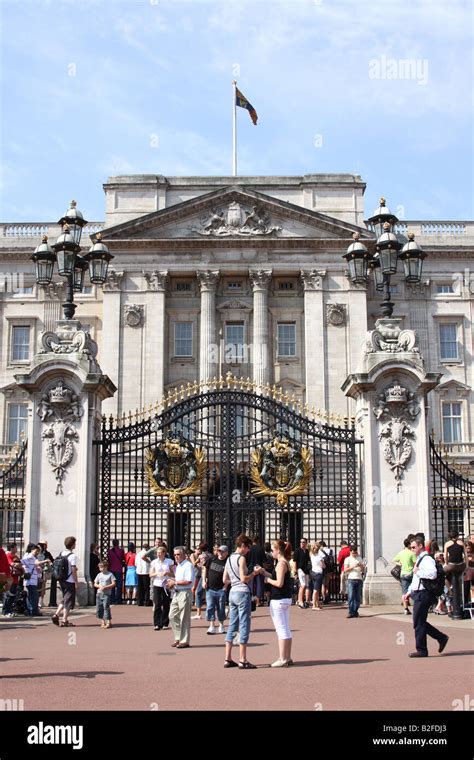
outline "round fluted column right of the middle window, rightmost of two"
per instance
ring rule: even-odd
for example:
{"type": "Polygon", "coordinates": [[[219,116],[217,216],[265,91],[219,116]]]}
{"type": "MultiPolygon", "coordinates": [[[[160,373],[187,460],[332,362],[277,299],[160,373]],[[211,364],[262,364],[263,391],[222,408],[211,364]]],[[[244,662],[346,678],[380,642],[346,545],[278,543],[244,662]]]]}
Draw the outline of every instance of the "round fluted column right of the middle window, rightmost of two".
{"type": "Polygon", "coordinates": [[[272,272],[259,269],[250,271],[249,277],[253,289],[253,381],[262,386],[270,383],[268,288],[272,272]]]}

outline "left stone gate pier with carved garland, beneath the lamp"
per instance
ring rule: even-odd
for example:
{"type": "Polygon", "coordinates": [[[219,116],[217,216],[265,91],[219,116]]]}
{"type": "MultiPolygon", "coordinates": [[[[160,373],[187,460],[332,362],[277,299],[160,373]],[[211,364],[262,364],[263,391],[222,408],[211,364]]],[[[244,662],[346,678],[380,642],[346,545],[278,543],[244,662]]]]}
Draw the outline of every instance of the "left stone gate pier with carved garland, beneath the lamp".
{"type": "Polygon", "coordinates": [[[56,556],[75,536],[80,601],[96,511],[102,401],[117,390],[96,361],[97,345],[77,320],[58,320],[40,336],[31,370],[15,375],[30,398],[25,543],[48,539],[56,556]]]}

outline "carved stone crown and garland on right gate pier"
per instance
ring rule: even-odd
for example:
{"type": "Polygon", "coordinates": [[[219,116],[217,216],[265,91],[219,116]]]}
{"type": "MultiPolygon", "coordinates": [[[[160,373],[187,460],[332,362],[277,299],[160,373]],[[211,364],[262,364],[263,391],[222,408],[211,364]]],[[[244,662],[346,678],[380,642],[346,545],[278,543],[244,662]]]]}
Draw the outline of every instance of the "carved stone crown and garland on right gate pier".
{"type": "Polygon", "coordinates": [[[385,461],[395,474],[397,491],[401,489],[404,471],[411,459],[415,432],[410,422],[420,413],[414,393],[410,393],[398,380],[378,396],[374,414],[383,423],[379,432],[385,461]]]}

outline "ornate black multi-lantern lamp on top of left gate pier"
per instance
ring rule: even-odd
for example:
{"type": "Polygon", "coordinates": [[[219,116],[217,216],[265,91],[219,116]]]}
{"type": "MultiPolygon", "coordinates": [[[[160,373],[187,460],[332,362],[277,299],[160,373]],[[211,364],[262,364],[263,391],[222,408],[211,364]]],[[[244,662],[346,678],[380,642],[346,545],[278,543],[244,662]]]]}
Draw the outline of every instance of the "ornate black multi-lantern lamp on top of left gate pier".
{"type": "Polygon", "coordinates": [[[50,284],[54,263],[57,263],[58,274],[60,277],[67,278],[66,302],[63,304],[64,318],[74,319],[76,311],[74,293],[82,292],[86,270],[89,270],[92,283],[103,285],[107,279],[109,261],[113,259],[113,256],[107,246],[102,243],[100,233],[96,235],[96,242],[89,252],[84,256],[80,255],[82,228],[87,222],[76,208],[76,201],[71,201],[70,208],[58,224],[62,225],[63,231],[56,243],[50,246],[45,235],[31,259],[35,262],[36,282],[43,287],[50,284]]]}

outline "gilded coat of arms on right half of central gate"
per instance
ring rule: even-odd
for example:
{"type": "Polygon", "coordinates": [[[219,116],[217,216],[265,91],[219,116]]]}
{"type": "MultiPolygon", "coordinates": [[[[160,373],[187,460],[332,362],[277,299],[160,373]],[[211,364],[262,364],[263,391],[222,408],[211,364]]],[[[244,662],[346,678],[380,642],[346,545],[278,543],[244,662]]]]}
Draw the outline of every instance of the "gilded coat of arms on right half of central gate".
{"type": "Polygon", "coordinates": [[[308,489],[313,467],[307,446],[299,446],[285,433],[275,434],[272,441],[258,446],[251,454],[250,479],[252,492],[258,496],[276,496],[284,507],[289,496],[308,489]]]}

